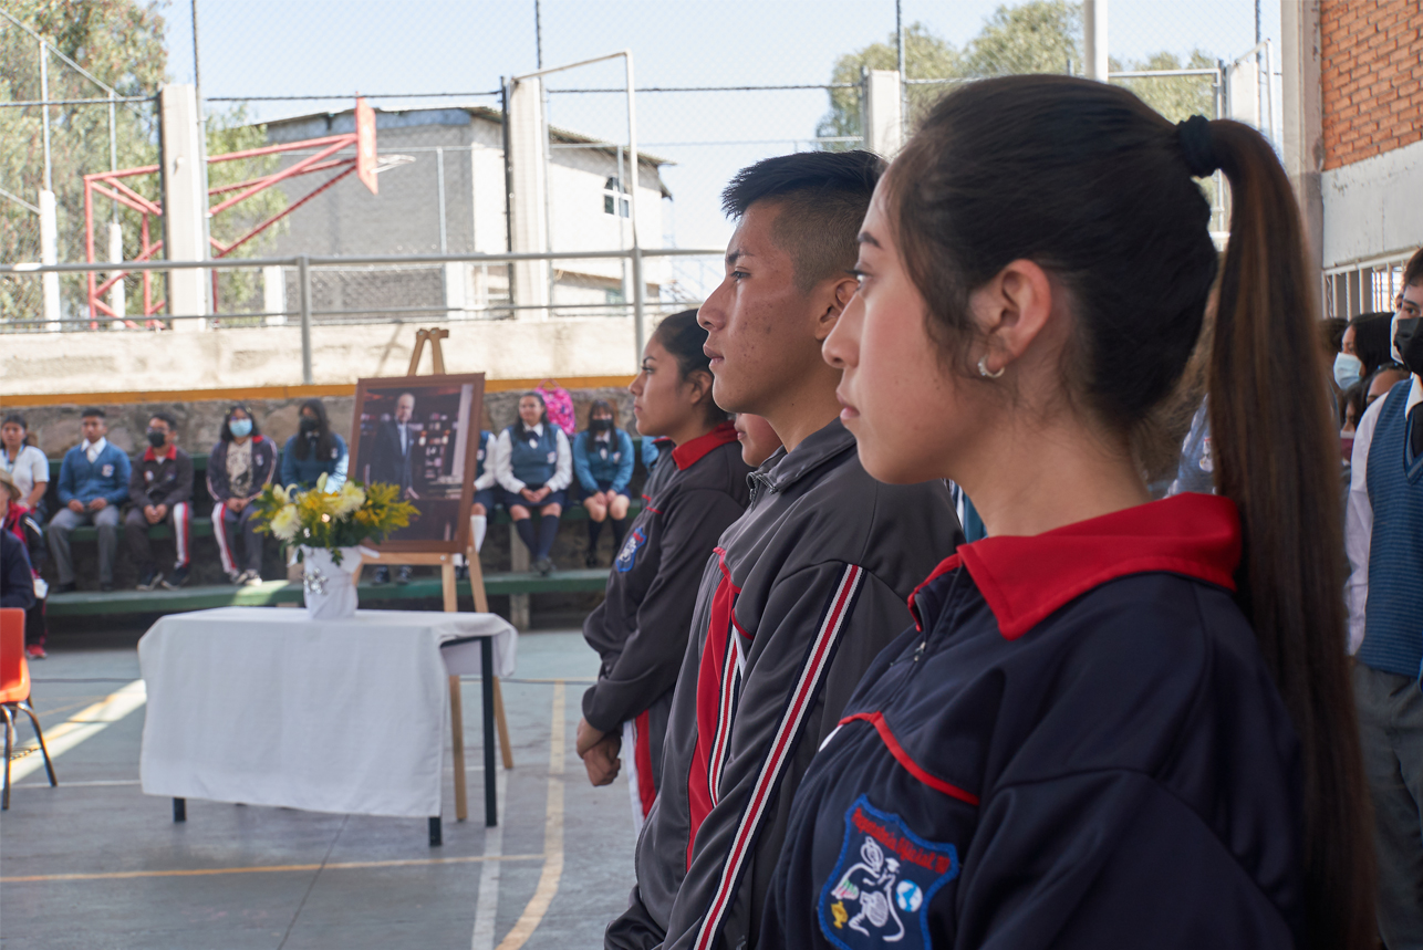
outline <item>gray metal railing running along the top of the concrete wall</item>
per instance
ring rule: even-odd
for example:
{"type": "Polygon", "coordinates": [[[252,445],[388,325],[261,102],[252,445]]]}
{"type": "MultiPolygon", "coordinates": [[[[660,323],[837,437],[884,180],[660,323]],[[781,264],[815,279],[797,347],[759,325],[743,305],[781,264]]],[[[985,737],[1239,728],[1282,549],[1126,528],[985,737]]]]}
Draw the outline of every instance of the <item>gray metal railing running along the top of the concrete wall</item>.
{"type": "MultiPolygon", "coordinates": [[[[428,306],[428,307],[379,307],[379,309],[359,309],[359,310],[314,310],[312,306],[312,272],[313,269],[323,267],[401,267],[401,266],[418,266],[418,265],[450,265],[450,263],[468,263],[468,265],[511,265],[518,262],[529,260],[630,260],[633,263],[633,272],[642,272],[642,259],[645,257],[721,257],[724,250],[707,250],[707,249],[689,249],[689,247],[632,247],[628,250],[578,250],[578,252],[539,252],[539,253],[501,253],[501,255],[369,255],[369,256],[316,256],[316,255],[292,255],[285,257],[243,257],[243,259],[218,259],[218,260],[125,260],[125,262],[95,262],[95,263],[70,263],[70,265],[40,265],[40,263],[0,263],[0,277],[27,277],[27,276],[41,276],[47,273],[102,273],[115,269],[129,270],[129,272],[145,272],[145,270],[250,270],[259,267],[295,267],[296,269],[296,286],[297,286],[297,307],[296,310],[275,310],[275,311],[232,311],[232,313],[212,313],[212,314],[165,314],[161,320],[138,317],[125,317],[124,320],[134,326],[134,329],[165,329],[162,324],[168,324],[175,320],[203,320],[208,321],[205,326],[222,326],[232,327],[232,321],[248,320],[263,320],[260,326],[270,326],[265,321],[270,317],[299,317],[302,327],[302,381],[310,385],[313,381],[312,373],[312,326],[316,317],[326,316],[350,316],[350,314],[400,314],[408,313],[410,317],[390,317],[380,320],[379,323],[407,323],[414,319],[427,320],[433,316],[447,319],[451,313],[497,313],[515,316],[524,311],[556,311],[556,310],[626,310],[630,309],[630,316],[636,329],[636,338],[646,338],[646,316],[649,303],[645,300],[645,294],[635,294],[635,300],[630,303],[601,303],[601,304],[581,304],[581,303],[539,303],[539,304],[521,304],[517,303],[518,293],[515,292],[515,300],[508,303],[498,303],[484,307],[468,307],[468,306],[428,306]],[[424,314],[424,316],[417,316],[424,314]],[[158,324],[154,327],[141,327],[139,321],[148,324],[158,324]]],[[[650,304],[656,311],[666,310],[667,307],[689,309],[697,306],[697,300],[657,300],[650,304]]],[[[112,317],[91,313],[85,317],[67,317],[61,320],[7,320],[0,323],[0,333],[34,333],[34,331],[77,331],[77,330],[92,330],[102,324],[111,324],[115,320],[112,317]]],[[[337,321],[340,323],[340,321],[337,321]]],[[[369,323],[369,320],[367,320],[369,323]]],[[[259,324],[248,324],[259,326],[259,324]]],[[[636,354],[636,358],[642,360],[642,353],[636,354]]]]}

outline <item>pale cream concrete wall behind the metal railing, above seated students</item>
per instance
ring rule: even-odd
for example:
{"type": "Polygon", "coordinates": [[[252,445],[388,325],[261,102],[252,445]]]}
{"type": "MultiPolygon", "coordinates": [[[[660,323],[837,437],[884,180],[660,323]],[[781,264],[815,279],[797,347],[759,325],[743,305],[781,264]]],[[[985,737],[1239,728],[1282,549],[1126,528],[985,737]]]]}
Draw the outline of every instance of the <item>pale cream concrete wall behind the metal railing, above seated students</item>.
{"type": "MultiPolygon", "coordinates": [[[[505,380],[636,373],[630,317],[430,326],[450,329],[443,346],[450,373],[487,373],[505,380]]],[[[649,333],[652,326],[649,316],[649,333]]],[[[414,340],[416,329],[408,324],[319,324],[312,329],[313,383],[404,375],[414,340]]],[[[10,334],[0,347],[0,404],[7,394],[211,390],[293,385],[300,380],[299,326],[10,334]]]]}

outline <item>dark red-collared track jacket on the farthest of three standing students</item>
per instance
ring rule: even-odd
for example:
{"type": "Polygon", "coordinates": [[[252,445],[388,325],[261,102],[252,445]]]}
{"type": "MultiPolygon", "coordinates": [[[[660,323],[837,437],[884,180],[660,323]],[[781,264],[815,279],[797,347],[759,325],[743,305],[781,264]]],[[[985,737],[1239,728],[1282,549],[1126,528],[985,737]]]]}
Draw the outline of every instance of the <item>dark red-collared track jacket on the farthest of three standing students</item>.
{"type": "Polygon", "coordinates": [[[636,721],[636,748],[622,754],[635,764],[643,816],[662,784],[662,738],[702,566],[746,511],[750,472],[730,422],[672,449],[649,479],[603,602],[583,621],[583,639],[602,658],[598,683],[583,693],[583,718],[603,732],[636,721]]]}

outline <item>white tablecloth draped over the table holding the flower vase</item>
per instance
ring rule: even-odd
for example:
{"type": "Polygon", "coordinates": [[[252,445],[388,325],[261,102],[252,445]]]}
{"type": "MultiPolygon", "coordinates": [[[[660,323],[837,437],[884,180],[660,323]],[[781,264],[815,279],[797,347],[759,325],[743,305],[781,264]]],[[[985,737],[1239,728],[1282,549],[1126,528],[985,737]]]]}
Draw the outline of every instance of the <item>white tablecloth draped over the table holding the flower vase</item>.
{"type": "Polygon", "coordinates": [[[440,813],[450,674],[514,673],[518,633],[488,613],[222,607],[169,614],[138,643],[144,792],[347,815],[440,813]],[[444,654],[450,654],[445,666],[444,654]]]}

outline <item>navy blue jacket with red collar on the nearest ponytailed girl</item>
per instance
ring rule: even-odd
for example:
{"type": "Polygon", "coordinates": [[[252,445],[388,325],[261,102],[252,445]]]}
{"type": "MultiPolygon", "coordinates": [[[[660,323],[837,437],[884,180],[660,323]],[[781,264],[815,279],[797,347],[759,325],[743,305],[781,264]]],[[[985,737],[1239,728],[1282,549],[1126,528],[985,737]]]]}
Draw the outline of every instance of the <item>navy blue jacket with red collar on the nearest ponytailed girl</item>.
{"type": "Polygon", "coordinates": [[[959,548],[801,782],[760,946],[1303,946],[1239,550],[1207,495],[959,548]]]}

